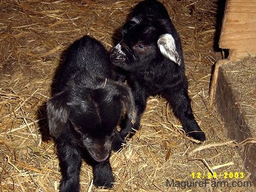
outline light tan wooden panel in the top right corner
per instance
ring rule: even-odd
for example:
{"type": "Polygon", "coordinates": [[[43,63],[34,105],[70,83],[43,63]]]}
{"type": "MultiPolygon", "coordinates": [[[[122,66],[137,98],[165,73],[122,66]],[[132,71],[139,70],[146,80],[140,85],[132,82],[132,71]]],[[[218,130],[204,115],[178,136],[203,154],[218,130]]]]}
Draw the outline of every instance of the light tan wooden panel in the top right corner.
{"type": "Polygon", "coordinates": [[[256,0],[227,0],[219,45],[229,60],[256,56],[256,0]]]}

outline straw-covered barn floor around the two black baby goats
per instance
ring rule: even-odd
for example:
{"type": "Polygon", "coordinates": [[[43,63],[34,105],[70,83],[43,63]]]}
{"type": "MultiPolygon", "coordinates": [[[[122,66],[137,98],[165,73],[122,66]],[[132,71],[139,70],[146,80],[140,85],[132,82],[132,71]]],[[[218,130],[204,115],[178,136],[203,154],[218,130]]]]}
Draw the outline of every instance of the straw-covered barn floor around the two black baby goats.
{"type": "MultiPolygon", "coordinates": [[[[60,168],[45,131],[45,102],[61,52],[87,34],[111,49],[136,2],[0,2],[1,191],[58,191],[60,168]]],[[[92,168],[83,163],[81,191],[256,191],[241,156],[246,148],[228,138],[220,115],[209,107],[212,66],[221,59],[213,48],[218,1],[173,0],[164,5],[182,40],[189,95],[207,141],[197,144],[184,136],[166,100],[150,97],[141,130],[111,156],[114,188],[92,186],[92,168]],[[166,186],[166,179],[195,183],[206,178],[206,186],[166,186]]]]}

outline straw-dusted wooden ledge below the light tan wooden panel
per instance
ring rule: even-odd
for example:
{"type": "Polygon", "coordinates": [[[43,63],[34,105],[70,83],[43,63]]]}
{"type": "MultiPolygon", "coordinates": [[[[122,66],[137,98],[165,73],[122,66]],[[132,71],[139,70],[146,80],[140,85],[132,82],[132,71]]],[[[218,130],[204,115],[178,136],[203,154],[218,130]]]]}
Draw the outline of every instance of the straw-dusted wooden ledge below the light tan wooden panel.
{"type": "MultiPolygon", "coordinates": [[[[223,118],[228,136],[246,142],[256,136],[256,59],[228,61],[218,68],[215,104],[223,118]]],[[[250,179],[256,184],[256,143],[250,143],[241,153],[244,167],[252,174],[250,179]]]]}

